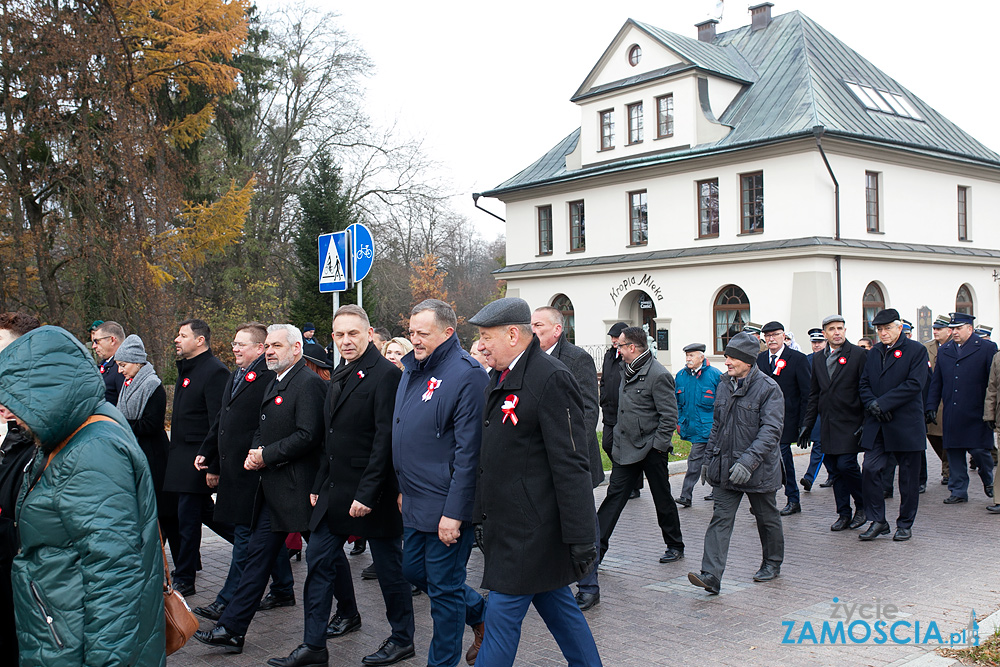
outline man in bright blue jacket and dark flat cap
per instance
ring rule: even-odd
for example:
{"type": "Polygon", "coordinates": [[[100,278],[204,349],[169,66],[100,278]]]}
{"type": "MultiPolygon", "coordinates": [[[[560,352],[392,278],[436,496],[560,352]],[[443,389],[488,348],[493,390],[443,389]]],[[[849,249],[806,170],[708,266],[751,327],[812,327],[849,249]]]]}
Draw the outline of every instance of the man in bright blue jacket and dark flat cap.
{"type": "MultiPolygon", "coordinates": [[[[688,469],[681,485],[681,495],[676,502],[691,507],[694,485],[701,477],[705,446],[712,432],[712,410],[715,407],[715,390],[722,371],[705,359],[705,344],[691,343],[684,347],[684,368],[674,378],[677,386],[677,429],[681,438],[691,443],[688,469]]],[[[711,499],[711,496],[706,496],[711,499]]]]}

